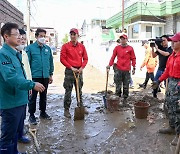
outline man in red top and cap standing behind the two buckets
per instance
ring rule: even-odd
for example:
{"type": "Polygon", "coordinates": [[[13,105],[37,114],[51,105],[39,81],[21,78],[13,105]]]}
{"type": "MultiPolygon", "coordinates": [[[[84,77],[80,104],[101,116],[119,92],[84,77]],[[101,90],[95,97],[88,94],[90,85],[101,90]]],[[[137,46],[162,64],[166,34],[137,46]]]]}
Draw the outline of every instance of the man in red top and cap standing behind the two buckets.
{"type": "Polygon", "coordinates": [[[114,59],[117,56],[117,74],[116,74],[116,95],[121,97],[121,88],[123,85],[123,105],[127,106],[127,97],[129,95],[129,83],[130,83],[130,71],[131,65],[133,66],[132,74],[135,73],[136,56],[133,47],[127,44],[127,35],[120,36],[120,45],[116,46],[113,50],[113,55],[106,67],[110,69],[110,66],[114,64],[114,59]]]}

